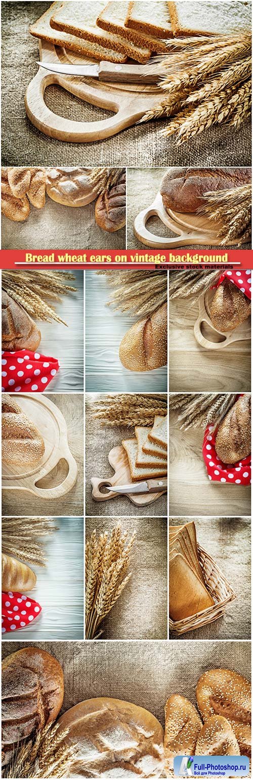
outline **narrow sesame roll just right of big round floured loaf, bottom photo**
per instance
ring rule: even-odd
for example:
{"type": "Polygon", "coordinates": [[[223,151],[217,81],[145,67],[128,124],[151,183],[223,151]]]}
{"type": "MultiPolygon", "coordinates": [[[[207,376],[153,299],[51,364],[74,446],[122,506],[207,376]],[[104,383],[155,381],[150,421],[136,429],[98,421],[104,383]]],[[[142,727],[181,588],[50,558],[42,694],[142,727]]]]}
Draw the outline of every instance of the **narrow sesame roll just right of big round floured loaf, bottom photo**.
{"type": "Polygon", "coordinates": [[[164,755],[165,771],[171,777],[176,756],[195,755],[202,721],[193,704],[179,693],[173,693],[165,705],[164,755]]]}

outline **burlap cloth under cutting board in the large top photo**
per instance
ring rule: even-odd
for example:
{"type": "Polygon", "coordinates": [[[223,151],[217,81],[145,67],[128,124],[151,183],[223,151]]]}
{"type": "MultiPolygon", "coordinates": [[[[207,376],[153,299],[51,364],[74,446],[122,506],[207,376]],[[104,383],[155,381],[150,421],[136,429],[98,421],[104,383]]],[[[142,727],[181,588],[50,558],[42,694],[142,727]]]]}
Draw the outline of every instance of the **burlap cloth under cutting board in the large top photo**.
{"type": "MultiPolygon", "coordinates": [[[[177,148],[173,137],[159,130],[167,121],[130,127],[117,136],[92,144],[67,144],[48,138],[26,119],[24,94],[37,73],[38,42],[29,24],[49,2],[2,3],[2,164],[3,165],[250,165],[251,129],[226,126],[209,129],[177,148]]],[[[105,119],[108,112],[49,87],[48,108],[73,120],[105,119]]]]}

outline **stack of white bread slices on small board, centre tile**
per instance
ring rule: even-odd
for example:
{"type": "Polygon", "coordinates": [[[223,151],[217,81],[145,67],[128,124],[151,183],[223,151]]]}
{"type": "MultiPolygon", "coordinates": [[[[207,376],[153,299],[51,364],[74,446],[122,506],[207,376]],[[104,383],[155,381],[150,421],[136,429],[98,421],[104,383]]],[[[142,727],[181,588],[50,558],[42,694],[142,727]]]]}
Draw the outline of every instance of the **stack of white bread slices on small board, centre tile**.
{"type": "Polygon", "coordinates": [[[167,417],[156,415],[153,427],[135,426],[135,438],[124,439],[132,480],[167,476],[167,417]]]}

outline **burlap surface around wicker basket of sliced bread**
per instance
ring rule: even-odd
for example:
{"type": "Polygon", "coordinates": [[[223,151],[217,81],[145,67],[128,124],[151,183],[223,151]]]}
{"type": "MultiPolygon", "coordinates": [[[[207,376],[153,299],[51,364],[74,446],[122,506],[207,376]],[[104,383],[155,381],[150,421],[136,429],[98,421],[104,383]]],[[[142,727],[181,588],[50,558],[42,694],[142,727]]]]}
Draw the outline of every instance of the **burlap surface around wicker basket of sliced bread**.
{"type": "MultiPolygon", "coordinates": [[[[180,524],[189,518],[180,518],[180,524]]],[[[251,521],[249,517],[194,518],[199,544],[209,552],[235,594],[222,618],[181,639],[251,639],[251,521]]],[[[178,518],[170,518],[178,525],[178,518]]],[[[171,634],[173,639],[178,639],[171,634]]]]}

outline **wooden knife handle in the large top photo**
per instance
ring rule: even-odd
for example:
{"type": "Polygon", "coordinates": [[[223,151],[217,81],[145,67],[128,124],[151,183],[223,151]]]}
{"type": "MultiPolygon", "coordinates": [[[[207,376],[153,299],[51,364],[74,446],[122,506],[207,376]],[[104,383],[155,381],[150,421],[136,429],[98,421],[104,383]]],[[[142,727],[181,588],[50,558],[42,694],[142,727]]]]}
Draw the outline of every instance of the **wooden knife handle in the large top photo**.
{"type": "Polygon", "coordinates": [[[146,73],[142,65],[118,65],[115,62],[100,62],[98,78],[100,81],[132,84],[157,84],[159,80],[157,73],[146,73]]]}

